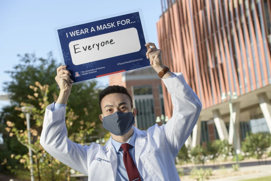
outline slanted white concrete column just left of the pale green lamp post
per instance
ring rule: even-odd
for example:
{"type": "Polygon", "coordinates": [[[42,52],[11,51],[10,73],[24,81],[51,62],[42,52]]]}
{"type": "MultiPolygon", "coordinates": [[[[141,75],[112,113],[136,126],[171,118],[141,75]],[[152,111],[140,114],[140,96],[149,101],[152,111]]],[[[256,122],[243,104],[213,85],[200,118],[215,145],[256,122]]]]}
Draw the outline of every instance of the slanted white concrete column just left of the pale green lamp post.
{"type": "Polygon", "coordinates": [[[228,140],[229,138],[228,130],[226,128],[225,122],[222,119],[222,116],[219,110],[218,109],[213,110],[213,115],[214,115],[215,127],[217,128],[219,138],[221,140],[224,140],[224,139],[228,140]]]}

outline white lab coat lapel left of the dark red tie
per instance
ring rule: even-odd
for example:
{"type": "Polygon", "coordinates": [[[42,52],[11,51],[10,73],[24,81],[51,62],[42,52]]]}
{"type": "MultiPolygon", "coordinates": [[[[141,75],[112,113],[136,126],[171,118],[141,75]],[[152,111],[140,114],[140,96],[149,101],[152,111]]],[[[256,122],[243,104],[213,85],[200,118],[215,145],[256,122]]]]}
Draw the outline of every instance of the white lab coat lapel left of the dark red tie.
{"type": "MultiPolygon", "coordinates": [[[[112,167],[112,172],[114,175],[114,180],[116,180],[116,174],[117,174],[117,166],[118,166],[118,158],[117,158],[117,153],[115,151],[115,148],[112,144],[111,137],[108,139],[104,146],[104,151],[107,157],[109,158],[111,167],[112,167]]],[[[106,174],[106,173],[105,173],[106,174]]]]}

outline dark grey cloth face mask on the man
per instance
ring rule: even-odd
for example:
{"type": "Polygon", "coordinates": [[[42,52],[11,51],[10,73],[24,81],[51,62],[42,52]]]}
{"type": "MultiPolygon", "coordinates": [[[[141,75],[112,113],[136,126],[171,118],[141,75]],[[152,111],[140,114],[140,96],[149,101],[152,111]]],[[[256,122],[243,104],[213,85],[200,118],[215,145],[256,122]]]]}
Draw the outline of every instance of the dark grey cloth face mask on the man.
{"type": "Polygon", "coordinates": [[[103,117],[102,121],[104,128],[117,136],[126,134],[132,128],[134,123],[135,118],[132,112],[122,113],[118,111],[103,117]]]}

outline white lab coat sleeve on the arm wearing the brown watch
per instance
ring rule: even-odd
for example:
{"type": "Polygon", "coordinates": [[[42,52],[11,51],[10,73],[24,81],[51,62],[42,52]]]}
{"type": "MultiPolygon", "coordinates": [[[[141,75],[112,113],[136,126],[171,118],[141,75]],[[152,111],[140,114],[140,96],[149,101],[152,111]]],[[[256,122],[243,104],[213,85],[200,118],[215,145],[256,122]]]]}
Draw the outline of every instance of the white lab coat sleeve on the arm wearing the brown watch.
{"type": "Polygon", "coordinates": [[[173,158],[178,155],[188,136],[191,134],[201,112],[198,96],[186,83],[182,73],[177,77],[163,79],[173,104],[172,118],[160,128],[164,132],[173,158]]]}

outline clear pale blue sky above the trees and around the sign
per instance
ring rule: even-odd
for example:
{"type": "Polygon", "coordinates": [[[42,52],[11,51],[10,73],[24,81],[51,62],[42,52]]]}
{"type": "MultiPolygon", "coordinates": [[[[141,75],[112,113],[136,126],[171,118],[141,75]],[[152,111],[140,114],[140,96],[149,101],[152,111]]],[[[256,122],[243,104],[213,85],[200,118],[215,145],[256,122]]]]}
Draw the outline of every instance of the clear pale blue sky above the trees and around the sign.
{"type": "MultiPolygon", "coordinates": [[[[149,41],[158,46],[156,22],[161,15],[160,0],[138,1],[0,1],[0,94],[10,81],[6,70],[17,65],[17,54],[33,53],[46,58],[52,51],[60,62],[53,28],[79,21],[142,8],[149,41]]],[[[99,80],[108,84],[108,79],[99,80]]],[[[0,104],[0,109],[1,109],[0,104]]]]}

